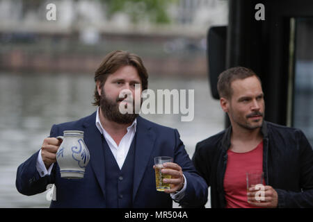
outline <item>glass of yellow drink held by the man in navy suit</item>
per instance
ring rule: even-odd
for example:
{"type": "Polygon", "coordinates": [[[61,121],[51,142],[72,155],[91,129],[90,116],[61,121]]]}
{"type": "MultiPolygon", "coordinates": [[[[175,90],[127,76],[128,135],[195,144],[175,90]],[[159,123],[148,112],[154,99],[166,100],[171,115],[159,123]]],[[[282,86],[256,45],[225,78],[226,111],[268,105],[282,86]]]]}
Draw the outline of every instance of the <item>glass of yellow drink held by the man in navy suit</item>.
{"type": "Polygon", "coordinates": [[[165,189],[170,189],[170,184],[163,182],[163,179],[170,179],[170,175],[161,173],[163,169],[163,163],[172,162],[172,157],[154,157],[154,170],[155,170],[155,183],[157,186],[157,191],[164,191],[165,189]]]}

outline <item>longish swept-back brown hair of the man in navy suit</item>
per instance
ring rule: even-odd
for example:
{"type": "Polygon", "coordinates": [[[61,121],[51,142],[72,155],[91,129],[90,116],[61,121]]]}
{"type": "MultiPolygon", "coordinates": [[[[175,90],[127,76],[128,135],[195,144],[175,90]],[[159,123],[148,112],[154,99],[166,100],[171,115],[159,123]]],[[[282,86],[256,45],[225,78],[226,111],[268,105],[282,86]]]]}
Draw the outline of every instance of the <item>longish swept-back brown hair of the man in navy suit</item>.
{"type": "MultiPolygon", "coordinates": [[[[97,83],[97,81],[99,81],[100,87],[103,87],[106,78],[108,78],[109,75],[127,65],[134,67],[138,71],[138,75],[141,78],[142,89],[147,89],[148,74],[143,65],[143,61],[139,56],[121,50],[112,51],[106,55],[99,68],[95,71],[95,82],[97,83]]],[[[93,105],[100,105],[100,96],[97,90],[97,85],[95,86],[94,99],[95,102],[93,105]]]]}

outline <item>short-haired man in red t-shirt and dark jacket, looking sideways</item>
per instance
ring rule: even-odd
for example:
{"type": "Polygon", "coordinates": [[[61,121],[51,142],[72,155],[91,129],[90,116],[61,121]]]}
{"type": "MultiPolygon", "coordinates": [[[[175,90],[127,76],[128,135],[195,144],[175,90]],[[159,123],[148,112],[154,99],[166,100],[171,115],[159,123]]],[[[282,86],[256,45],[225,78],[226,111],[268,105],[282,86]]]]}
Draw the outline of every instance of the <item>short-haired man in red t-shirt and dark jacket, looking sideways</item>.
{"type": "Polygon", "coordinates": [[[211,207],[312,207],[313,151],[304,133],[264,120],[260,78],[246,67],[218,77],[231,126],[196,145],[193,163],[211,187],[211,207]],[[246,173],[264,173],[263,198],[246,173]]]}

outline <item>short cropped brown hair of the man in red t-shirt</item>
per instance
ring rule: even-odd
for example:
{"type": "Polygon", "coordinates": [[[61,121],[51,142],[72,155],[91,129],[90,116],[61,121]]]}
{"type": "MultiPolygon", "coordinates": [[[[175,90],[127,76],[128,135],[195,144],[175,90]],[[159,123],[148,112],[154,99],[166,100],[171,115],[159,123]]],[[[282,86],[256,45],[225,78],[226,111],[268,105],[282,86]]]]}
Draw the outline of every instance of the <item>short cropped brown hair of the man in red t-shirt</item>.
{"type": "Polygon", "coordinates": [[[248,69],[246,67],[232,67],[230,69],[226,69],[218,76],[218,95],[220,97],[224,97],[226,99],[230,99],[232,97],[232,87],[231,84],[234,80],[245,79],[250,76],[255,76],[259,79],[261,83],[261,79],[254,71],[248,69]]]}

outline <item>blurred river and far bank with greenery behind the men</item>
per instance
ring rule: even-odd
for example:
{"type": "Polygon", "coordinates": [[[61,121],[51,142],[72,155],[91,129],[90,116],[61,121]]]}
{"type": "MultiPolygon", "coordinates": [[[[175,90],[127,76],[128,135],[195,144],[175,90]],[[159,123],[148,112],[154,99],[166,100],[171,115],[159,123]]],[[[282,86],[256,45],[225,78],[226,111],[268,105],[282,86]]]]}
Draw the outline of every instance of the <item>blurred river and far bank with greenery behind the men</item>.
{"type": "Polygon", "coordinates": [[[143,58],[150,89],[195,90],[193,121],[143,115],[177,128],[190,157],[197,142],[223,130],[206,38],[210,26],[227,25],[227,7],[227,0],[0,0],[0,207],[49,207],[47,192],[17,192],[17,167],[52,124],[95,111],[94,71],[110,51],[143,58]],[[56,20],[47,20],[49,3],[56,20]]]}

